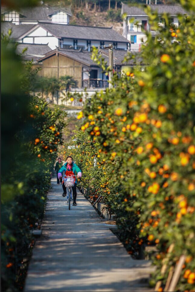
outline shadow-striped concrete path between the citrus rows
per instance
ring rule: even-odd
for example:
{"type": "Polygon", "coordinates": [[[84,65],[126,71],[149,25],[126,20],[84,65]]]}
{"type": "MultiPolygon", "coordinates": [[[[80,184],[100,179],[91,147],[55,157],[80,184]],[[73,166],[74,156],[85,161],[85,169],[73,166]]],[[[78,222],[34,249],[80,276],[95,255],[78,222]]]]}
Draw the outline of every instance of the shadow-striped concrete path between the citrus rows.
{"type": "Polygon", "coordinates": [[[71,210],[62,192],[52,179],[24,291],[153,291],[150,262],[128,255],[79,190],[71,210]]]}

